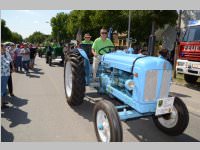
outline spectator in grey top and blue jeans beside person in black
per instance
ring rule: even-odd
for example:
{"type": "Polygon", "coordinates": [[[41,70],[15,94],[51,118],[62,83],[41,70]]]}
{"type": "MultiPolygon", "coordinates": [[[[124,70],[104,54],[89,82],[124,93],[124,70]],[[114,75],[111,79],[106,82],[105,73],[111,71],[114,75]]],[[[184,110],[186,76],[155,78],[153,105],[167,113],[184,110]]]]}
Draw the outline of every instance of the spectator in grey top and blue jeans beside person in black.
{"type": "Polygon", "coordinates": [[[26,75],[29,74],[29,62],[30,62],[30,50],[28,45],[25,43],[24,48],[21,50],[22,64],[26,75]]]}

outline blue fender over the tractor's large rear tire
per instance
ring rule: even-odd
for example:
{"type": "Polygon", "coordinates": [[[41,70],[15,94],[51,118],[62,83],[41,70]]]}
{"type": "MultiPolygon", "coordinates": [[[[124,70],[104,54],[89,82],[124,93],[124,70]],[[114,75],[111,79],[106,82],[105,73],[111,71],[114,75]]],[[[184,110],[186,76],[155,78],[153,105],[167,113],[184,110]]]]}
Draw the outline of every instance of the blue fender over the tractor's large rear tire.
{"type": "Polygon", "coordinates": [[[89,85],[90,72],[91,72],[90,61],[89,61],[89,58],[88,58],[86,52],[83,49],[78,48],[78,51],[81,54],[81,56],[84,58],[85,81],[86,81],[86,85],[89,85]]]}

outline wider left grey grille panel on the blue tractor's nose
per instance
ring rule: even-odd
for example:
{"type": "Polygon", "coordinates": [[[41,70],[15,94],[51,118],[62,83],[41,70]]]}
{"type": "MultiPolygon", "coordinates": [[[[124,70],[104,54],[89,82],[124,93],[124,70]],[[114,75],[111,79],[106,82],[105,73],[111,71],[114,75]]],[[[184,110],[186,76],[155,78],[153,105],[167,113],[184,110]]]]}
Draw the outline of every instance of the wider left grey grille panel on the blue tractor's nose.
{"type": "Polygon", "coordinates": [[[146,82],[144,88],[144,100],[152,101],[156,99],[156,89],[158,80],[158,71],[149,70],[146,73],[146,82]]]}

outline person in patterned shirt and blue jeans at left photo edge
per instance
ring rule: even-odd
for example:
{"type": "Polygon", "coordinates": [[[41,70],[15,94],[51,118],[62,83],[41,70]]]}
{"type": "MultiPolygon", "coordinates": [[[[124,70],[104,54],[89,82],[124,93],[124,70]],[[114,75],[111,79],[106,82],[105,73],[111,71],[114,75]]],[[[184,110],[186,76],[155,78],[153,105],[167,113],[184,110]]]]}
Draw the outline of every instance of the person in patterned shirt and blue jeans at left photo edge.
{"type": "Polygon", "coordinates": [[[10,77],[10,64],[12,63],[12,58],[10,54],[6,51],[6,48],[1,44],[1,108],[7,108],[7,83],[10,77]]]}

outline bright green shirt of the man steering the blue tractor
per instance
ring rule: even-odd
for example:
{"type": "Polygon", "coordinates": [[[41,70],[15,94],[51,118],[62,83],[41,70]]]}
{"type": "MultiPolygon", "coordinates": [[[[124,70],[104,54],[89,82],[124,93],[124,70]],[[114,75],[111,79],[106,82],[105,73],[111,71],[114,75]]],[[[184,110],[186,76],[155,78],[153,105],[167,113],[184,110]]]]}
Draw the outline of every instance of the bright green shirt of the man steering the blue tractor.
{"type": "MultiPolygon", "coordinates": [[[[101,48],[106,47],[106,46],[114,46],[114,45],[109,38],[106,38],[106,40],[103,41],[102,38],[99,37],[94,41],[92,48],[95,50],[95,52],[97,54],[99,54],[98,50],[100,50],[101,48]]],[[[102,51],[101,53],[106,54],[106,52],[104,52],[104,51],[102,51]]]]}

